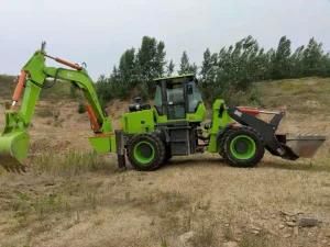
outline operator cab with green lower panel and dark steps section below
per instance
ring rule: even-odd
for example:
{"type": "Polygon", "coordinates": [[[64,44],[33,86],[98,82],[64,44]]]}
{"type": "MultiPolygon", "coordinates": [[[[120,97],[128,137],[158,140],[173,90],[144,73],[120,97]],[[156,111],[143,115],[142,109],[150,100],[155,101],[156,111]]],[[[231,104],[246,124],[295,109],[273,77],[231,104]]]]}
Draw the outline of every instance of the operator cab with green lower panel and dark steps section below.
{"type": "Polygon", "coordinates": [[[166,133],[170,156],[195,154],[206,108],[194,75],[156,79],[156,128],[166,133]]]}

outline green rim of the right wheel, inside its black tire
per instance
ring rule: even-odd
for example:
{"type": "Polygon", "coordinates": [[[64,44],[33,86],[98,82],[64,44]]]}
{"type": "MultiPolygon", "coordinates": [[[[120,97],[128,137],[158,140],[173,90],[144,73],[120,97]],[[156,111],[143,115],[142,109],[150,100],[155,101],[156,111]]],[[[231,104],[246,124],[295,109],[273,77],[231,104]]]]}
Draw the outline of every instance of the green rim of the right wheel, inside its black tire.
{"type": "Polygon", "coordinates": [[[248,135],[238,135],[230,143],[230,153],[237,159],[248,160],[253,158],[256,151],[256,145],[253,138],[248,135]],[[244,148],[240,150],[239,145],[244,148]]]}

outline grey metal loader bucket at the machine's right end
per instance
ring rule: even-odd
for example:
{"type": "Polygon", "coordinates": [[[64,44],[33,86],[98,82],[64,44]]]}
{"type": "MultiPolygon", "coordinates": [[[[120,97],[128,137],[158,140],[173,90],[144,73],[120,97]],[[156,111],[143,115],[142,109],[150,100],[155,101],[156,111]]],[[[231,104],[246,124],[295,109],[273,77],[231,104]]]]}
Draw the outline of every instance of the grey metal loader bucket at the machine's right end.
{"type": "Polygon", "coordinates": [[[326,136],[319,135],[287,136],[286,147],[299,158],[312,158],[324,141],[326,136]]]}

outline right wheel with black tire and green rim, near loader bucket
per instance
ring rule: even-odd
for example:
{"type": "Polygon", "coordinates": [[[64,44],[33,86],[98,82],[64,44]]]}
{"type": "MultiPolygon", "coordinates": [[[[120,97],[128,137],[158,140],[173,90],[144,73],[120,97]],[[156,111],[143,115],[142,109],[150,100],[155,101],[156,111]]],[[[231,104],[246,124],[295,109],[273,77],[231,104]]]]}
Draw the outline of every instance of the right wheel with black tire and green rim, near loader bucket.
{"type": "Polygon", "coordinates": [[[226,135],[223,153],[230,166],[249,168],[255,167],[264,157],[265,147],[260,134],[253,128],[244,126],[232,130],[226,135]],[[240,138],[241,141],[237,141],[240,138]],[[246,138],[248,144],[244,144],[242,138],[246,138]],[[251,150],[249,150],[249,145],[252,145],[251,150]]]}

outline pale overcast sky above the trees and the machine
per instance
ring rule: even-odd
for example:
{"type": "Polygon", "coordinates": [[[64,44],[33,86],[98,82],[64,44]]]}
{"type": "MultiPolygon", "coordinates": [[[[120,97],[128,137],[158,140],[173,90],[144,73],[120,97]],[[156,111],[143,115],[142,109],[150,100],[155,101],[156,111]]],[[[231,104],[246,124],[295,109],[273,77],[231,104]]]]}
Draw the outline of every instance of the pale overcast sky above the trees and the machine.
{"type": "Polygon", "coordinates": [[[16,75],[46,41],[48,54],[85,61],[96,80],[144,35],[164,41],[176,63],[187,50],[200,64],[207,47],[248,35],[266,48],[314,36],[329,52],[330,0],[0,0],[0,74],[16,75]]]}

